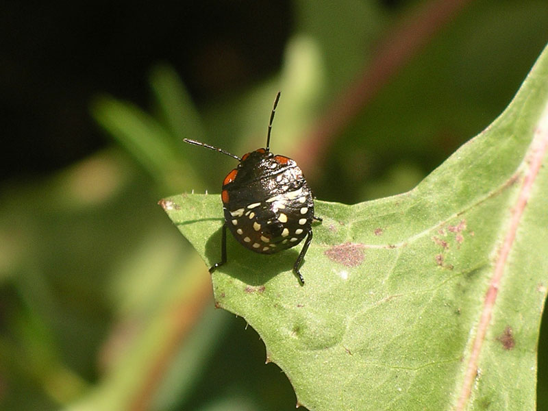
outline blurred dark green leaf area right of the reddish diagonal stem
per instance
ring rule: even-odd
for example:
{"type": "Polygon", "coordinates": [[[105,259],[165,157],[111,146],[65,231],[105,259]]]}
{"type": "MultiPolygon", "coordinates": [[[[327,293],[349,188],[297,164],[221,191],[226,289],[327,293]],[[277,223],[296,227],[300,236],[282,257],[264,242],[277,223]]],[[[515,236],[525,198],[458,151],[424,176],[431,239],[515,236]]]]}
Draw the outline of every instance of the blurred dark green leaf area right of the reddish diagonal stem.
{"type": "MultiPolygon", "coordinates": [[[[436,7],[409,2],[406,12],[393,15],[393,21],[390,14],[382,14],[388,18],[383,25],[390,28],[384,25],[380,33],[369,36],[370,42],[362,40],[361,70],[379,69],[378,65],[382,69],[386,61],[366,64],[375,62],[374,55],[384,51],[383,40],[401,23],[414,21],[417,12],[425,10],[422,6],[436,7]]],[[[548,8],[543,0],[460,3],[449,24],[440,27],[340,130],[321,169],[329,173],[317,177],[314,193],[348,203],[374,199],[370,196],[379,190],[367,186],[378,186],[379,177],[389,175],[400,162],[419,166],[423,178],[506,108],[545,46],[545,27],[548,8]],[[340,178],[332,178],[334,173],[340,178]]]]}

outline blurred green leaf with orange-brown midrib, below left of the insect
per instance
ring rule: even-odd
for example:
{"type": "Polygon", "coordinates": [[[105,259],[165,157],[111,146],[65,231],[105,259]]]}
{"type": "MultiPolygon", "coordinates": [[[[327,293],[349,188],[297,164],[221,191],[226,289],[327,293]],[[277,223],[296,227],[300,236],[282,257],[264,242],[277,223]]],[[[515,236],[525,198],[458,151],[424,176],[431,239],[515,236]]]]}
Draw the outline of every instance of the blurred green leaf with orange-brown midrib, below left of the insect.
{"type": "Polygon", "coordinates": [[[157,306],[150,307],[147,316],[134,310],[134,317],[119,324],[119,334],[126,338],[123,351],[101,382],[67,411],[164,409],[166,403],[189,395],[226,324],[226,316],[212,318],[208,312],[190,329],[201,314],[201,300],[208,299],[203,286],[209,279],[202,271],[194,258],[179,259],[173,267],[175,279],[164,284],[157,306]],[[186,344],[179,347],[183,339],[186,344]]]}

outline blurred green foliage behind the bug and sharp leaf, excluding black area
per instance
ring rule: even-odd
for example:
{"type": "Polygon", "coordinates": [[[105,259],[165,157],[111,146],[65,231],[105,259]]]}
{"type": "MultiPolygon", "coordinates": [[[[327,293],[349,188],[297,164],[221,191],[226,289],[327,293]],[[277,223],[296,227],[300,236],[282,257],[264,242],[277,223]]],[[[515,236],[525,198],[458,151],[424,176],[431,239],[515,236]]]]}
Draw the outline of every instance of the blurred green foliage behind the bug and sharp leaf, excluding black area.
{"type": "MultiPolygon", "coordinates": [[[[114,147],[49,177],[5,183],[0,408],[292,408],[295,394],[276,366],[263,364],[257,334],[210,309],[205,266],[156,203],[218,192],[234,160],[182,138],[238,155],[262,146],[277,90],[272,147],[293,156],[382,38],[421,5],[295,0],[275,77],[197,108],[160,65],[151,72],[151,110],[108,95],[92,103],[114,147]]],[[[547,42],[546,27],[544,0],[469,3],[332,136],[328,158],[311,173],[315,195],[353,203],[412,188],[506,107],[547,42]]],[[[546,334],[539,410],[548,408],[546,334]]]]}

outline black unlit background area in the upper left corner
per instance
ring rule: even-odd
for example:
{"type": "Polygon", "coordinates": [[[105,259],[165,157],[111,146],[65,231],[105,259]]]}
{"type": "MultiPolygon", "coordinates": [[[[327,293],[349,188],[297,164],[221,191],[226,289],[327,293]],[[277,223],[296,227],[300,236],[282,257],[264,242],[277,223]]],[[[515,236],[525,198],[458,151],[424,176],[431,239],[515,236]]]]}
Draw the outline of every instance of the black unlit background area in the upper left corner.
{"type": "Polygon", "coordinates": [[[3,2],[2,177],[54,171],[104,147],[90,99],[108,91],[146,106],[155,63],[172,64],[197,104],[272,75],[290,29],[288,1],[3,2]]]}

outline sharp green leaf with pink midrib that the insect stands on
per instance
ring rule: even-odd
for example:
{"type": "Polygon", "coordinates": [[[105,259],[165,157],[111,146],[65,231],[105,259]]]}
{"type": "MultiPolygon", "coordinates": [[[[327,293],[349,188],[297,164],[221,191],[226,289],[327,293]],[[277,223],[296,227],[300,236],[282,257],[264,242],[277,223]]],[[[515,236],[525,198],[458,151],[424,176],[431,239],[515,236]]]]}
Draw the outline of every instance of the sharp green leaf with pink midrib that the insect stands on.
{"type": "MultiPolygon", "coordinates": [[[[548,286],[548,51],[508,109],[414,190],[345,206],[273,256],[229,236],[218,306],[245,318],[310,410],[533,410],[548,286]]],[[[161,204],[208,266],[221,201],[161,204]]]]}

